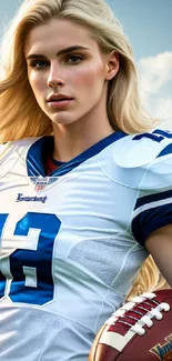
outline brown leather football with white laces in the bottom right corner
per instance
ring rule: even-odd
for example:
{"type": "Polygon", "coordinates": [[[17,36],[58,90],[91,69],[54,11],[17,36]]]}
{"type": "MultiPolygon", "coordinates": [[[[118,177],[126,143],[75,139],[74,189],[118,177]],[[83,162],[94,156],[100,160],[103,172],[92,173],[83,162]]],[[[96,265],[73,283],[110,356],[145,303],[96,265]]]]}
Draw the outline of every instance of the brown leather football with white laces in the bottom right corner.
{"type": "Polygon", "coordinates": [[[172,360],[172,289],[143,293],[103,324],[89,361],[172,360]]]}

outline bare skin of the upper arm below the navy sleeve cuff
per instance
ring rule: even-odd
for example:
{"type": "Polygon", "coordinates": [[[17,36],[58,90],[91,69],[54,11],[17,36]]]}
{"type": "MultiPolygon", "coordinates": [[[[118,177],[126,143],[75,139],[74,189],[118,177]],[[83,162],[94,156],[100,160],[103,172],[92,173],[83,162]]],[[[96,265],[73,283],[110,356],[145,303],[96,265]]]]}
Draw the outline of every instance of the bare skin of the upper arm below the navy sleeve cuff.
{"type": "Polygon", "coordinates": [[[172,224],[150,233],[145,240],[145,248],[152,254],[166,282],[172,287],[172,224]]]}

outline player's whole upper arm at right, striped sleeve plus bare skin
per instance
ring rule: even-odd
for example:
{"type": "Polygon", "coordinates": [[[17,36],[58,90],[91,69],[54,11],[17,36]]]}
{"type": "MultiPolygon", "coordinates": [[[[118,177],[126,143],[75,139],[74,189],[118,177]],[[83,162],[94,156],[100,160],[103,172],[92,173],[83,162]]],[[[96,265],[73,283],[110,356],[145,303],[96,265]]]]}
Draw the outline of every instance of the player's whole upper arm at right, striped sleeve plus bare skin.
{"type": "MultiPolygon", "coordinates": [[[[164,133],[164,132],[163,132],[164,133]]],[[[134,238],[152,254],[172,287],[172,134],[148,164],[132,217],[134,238]]],[[[153,147],[153,144],[152,144],[153,147]]]]}

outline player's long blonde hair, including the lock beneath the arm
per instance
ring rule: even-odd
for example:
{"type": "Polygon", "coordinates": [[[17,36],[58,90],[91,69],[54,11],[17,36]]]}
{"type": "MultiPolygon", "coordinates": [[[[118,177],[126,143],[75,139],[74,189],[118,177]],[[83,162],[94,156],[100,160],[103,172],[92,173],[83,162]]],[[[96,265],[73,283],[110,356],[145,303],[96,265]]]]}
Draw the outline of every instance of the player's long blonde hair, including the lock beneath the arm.
{"type": "MultiPolygon", "coordinates": [[[[52,132],[51,121],[39,108],[29,84],[23,54],[29,31],[52,18],[87,26],[103,53],[115,50],[119,54],[120,70],[109,82],[107,103],[113,129],[125,133],[152,129],[155,122],[143,112],[140,103],[132,49],[108,4],[103,0],[26,0],[1,47],[0,142],[52,132]]],[[[155,287],[159,271],[151,258],[143,264],[136,280],[129,297],[139,289],[144,291],[155,287]],[[144,282],[143,273],[150,274],[149,284],[146,277],[144,282]]]]}

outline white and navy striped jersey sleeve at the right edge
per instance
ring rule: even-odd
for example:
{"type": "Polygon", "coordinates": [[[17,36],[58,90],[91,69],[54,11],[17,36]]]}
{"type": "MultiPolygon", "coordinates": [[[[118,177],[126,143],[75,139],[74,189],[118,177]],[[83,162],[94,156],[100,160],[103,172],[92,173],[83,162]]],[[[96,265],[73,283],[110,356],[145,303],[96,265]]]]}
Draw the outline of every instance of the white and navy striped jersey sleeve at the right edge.
{"type": "Polygon", "coordinates": [[[151,232],[171,223],[172,138],[145,169],[132,214],[132,233],[144,245],[151,232]]]}

